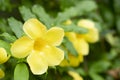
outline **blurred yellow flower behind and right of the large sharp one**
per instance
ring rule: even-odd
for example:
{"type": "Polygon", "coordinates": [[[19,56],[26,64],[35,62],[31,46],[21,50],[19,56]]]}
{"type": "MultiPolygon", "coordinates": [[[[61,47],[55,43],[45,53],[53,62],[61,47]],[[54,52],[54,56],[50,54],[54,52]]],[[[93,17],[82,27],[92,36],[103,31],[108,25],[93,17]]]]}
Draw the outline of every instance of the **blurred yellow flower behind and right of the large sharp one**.
{"type": "MultiPolygon", "coordinates": [[[[67,23],[70,24],[70,21],[67,23]]],[[[71,22],[72,23],[72,22],[71,22]]],[[[78,21],[78,26],[88,29],[88,32],[85,34],[77,34],[74,32],[67,32],[66,36],[73,43],[75,49],[79,54],[88,55],[89,53],[89,44],[97,42],[99,40],[99,31],[95,27],[95,23],[88,19],[81,19],[78,21]]]]}

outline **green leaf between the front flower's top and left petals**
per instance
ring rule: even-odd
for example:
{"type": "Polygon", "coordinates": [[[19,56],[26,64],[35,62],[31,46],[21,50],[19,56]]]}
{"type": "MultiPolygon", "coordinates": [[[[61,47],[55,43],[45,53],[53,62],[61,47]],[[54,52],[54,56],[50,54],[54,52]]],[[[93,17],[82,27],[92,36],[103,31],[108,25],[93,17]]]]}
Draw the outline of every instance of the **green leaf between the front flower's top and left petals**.
{"type": "Polygon", "coordinates": [[[23,26],[22,22],[11,17],[8,19],[8,23],[17,38],[21,37],[24,34],[22,30],[22,26],[23,26]]]}

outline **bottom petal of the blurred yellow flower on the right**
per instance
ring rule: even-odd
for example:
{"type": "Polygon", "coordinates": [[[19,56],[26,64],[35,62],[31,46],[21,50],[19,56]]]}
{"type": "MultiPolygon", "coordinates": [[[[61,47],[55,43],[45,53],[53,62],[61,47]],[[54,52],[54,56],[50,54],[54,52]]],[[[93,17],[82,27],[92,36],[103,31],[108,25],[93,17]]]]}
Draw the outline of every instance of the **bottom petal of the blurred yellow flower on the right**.
{"type": "Polygon", "coordinates": [[[89,44],[82,38],[78,38],[78,43],[74,44],[75,49],[79,54],[88,55],[89,44]]]}

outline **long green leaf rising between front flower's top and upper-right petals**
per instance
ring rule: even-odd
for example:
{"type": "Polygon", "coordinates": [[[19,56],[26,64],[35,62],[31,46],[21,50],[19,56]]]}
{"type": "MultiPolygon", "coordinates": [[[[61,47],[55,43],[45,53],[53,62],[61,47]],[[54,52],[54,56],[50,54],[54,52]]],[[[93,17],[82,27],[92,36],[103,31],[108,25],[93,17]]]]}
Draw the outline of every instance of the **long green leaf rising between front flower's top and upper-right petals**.
{"type": "Polygon", "coordinates": [[[48,28],[53,24],[52,18],[45,12],[44,8],[40,5],[34,5],[32,11],[37,15],[40,21],[42,21],[48,28]]]}

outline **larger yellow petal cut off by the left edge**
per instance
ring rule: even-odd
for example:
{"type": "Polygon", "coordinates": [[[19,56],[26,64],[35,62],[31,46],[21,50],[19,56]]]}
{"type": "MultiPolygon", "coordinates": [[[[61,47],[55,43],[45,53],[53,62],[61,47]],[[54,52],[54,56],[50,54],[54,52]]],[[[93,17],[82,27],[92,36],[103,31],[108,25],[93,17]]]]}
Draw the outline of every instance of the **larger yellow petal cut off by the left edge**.
{"type": "Polygon", "coordinates": [[[0,64],[5,63],[10,56],[7,55],[7,52],[4,48],[0,48],[0,64]]]}

